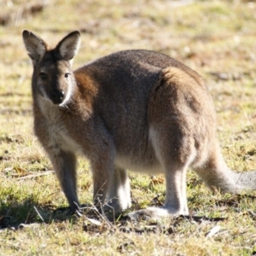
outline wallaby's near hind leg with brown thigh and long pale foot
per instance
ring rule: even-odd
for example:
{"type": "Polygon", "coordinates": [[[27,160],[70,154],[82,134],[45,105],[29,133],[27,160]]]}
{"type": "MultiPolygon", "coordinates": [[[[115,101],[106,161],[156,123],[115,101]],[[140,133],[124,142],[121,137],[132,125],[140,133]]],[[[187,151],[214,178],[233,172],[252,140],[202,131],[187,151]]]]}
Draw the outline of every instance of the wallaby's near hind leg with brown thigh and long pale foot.
{"type": "Polygon", "coordinates": [[[198,95],[194,91],[192,96],[190,88],[198,88],[198,83],[188,73],[166,67],[152,86],[148,100],[149,140],[166,173],[166,201],[164,207],[139,211],[135,213],[138,216],[160,218],[189,213],[186,172],[196,157],[197,112],[201,110],[200,104],[193,102],[193,96],[198,95]]]}

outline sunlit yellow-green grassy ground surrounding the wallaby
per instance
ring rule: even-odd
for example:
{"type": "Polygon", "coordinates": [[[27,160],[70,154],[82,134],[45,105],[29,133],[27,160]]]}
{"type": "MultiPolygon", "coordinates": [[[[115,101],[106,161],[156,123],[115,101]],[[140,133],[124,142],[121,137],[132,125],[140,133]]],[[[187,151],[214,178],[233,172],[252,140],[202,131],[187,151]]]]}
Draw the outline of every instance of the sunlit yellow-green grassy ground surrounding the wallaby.
{"type": "MultiPolygon", "coordinates": [[[[154,49],[183,61],[201,73],[212,93],[229,166],[256,170],[256,3],[0,0],[0,6],[1,255],[256,254],[256,193],[212,195],[190,172],[190,212],[207,218],[135,224],[56,212],[67,201],[32,134],[32,65],[21,41],[24,29],[50,44],[79,30],[74,67],[119,49],[154,49]],[[220,230],[207,236],[216,226],[220,230]]],[[[163,202],[161,176],[130,177],[134,208],[163,202]]],[[[79,198],[91,203],[83,159],[79,198]]]]}

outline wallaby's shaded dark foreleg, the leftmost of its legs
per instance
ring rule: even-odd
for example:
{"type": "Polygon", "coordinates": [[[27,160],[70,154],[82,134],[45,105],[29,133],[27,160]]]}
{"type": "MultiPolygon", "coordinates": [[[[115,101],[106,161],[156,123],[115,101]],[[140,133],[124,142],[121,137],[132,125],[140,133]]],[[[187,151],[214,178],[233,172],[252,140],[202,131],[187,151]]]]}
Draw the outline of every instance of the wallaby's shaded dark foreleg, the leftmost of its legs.
{"type": "Polygon", "coordinates": [[[61,188],[67,197],[69,206],[72,212],[75,212],[80,207],[77,195],[76,157],[74,154],[61,149],[55,151],[57,153],[48,150],[49,158],[61,183],[61,188]]]}

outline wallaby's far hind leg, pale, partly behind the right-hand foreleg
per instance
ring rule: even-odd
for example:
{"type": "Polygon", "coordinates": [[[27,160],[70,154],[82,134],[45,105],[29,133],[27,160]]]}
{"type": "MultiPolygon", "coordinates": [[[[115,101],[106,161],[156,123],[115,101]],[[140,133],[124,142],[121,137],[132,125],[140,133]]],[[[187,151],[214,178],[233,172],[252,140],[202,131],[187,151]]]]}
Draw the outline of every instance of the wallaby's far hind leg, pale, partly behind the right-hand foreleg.
{"type": "Polygon", "coordinates": [[[131,207],[130,182],[126,170],[115,167],[108,191],[108,205],[115,213],[131,207]]]}

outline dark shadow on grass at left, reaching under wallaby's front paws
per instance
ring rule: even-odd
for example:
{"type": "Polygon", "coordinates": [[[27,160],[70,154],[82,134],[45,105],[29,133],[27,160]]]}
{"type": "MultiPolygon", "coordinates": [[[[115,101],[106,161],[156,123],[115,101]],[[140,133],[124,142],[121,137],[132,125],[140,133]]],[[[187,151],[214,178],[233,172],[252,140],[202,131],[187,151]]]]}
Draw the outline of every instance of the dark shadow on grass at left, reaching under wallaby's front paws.
{"type": "Polygon", "coordinates": [[[125,214],[114,214],[111,211],[108,214],[102,214],[101,210],[89,204],[83,204],[80,212],[71,212],[70,207],[55,208],[52,205],[42,205],[33,197],[9,203],[0,201],[0,230],[6,228],[19,230],[29,224],[51,224],[63,221],[75,223],[79,218],[90,219],[97,224],[110,225],[114,225],[117,220],[127,220],[125,214]]]}

